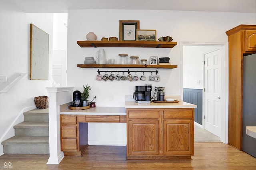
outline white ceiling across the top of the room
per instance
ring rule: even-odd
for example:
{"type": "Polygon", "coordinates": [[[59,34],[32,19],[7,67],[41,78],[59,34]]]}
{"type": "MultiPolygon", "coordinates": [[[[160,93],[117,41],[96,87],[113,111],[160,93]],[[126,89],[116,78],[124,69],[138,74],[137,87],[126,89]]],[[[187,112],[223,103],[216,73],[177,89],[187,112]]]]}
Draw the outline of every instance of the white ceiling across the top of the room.
{"type": "Polygon", "coordinates": [[[256,0],[8,0],[23,12],[69,9],[183,10],[256,13],[256,0]]]}

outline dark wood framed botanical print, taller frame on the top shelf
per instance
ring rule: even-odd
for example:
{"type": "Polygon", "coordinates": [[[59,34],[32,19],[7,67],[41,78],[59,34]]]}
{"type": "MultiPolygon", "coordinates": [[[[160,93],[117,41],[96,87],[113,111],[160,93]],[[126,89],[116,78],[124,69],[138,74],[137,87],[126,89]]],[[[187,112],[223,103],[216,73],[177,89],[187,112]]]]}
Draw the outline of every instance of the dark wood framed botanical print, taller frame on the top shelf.
{"type": "Polygon", "coordinates": [[[119,20],[119,40],[136,41],[136,30],[140,29],[140,21],[119,20]]]}

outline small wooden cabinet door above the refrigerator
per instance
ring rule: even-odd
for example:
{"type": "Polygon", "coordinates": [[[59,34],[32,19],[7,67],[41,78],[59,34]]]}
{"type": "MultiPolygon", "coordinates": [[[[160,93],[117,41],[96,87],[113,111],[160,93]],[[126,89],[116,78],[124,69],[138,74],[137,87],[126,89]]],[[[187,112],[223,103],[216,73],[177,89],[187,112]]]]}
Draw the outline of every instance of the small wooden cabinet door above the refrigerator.
{"type": "Polygon", "coordinates": [[[256,30],[245,31],[245,52],[256,52],[256,30]]]}

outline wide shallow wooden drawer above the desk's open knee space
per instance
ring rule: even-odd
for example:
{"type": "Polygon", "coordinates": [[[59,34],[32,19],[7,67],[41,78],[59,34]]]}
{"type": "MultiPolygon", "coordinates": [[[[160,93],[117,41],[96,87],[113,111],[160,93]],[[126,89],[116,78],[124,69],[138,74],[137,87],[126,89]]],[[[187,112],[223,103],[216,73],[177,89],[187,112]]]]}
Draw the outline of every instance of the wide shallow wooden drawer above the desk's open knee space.
{"type": "Polygon", "coordinates": [[[86,122],[120,122],[120,116],[86,115],[86,122]]]}

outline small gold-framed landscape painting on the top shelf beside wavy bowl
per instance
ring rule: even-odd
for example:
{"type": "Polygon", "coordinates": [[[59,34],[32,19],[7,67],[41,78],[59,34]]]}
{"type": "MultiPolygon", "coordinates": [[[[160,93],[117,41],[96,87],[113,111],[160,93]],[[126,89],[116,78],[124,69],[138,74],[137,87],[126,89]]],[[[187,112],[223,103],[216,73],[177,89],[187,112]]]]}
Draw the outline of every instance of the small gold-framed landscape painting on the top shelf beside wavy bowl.
{"type": "Polygon", "coordinates": [[[156,30],[136,30],[136,41],[156,41],[156,30]]]}

